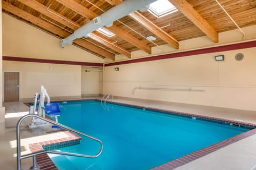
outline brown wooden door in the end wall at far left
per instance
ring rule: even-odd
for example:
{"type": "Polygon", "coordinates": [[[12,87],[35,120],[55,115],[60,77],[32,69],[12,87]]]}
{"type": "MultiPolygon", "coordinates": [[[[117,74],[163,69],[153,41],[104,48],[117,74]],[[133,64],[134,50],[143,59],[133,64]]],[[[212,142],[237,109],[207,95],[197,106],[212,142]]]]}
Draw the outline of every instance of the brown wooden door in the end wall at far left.
{"type": "Polygon", "coordinates": [[[4,101],[19,101],[19,84],[19,72],[4,72],[4,101]]]}

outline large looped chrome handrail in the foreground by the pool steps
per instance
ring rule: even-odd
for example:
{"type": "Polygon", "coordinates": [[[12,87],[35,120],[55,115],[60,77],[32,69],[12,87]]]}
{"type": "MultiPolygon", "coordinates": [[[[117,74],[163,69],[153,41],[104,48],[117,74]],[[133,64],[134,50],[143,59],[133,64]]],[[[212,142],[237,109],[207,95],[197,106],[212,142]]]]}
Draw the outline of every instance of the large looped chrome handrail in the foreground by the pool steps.
{"type": "Polygon", "coordinates": [[[68,156],[78,156],[78,157],[87,157],[87,158],[96,158],[98,156],[100,156],[102,150],[103,150],[103,143],[101,140],[97,139],[97,138],[94,138],[88,134],[85,134],[85,133],[82,133],[82,132],[79,132],[77,130],[74,130],[74,129],[71,129],[69,128],[68,126],[65,126],[65,125],[62,125],[60,123],[56,123],[54,121],[51,121],[47,118],[44,118],[42,116],[38,116],[38,115],[35,115],[35,114],[28,114],[28,115],[25,115],[23,117],[20,118],[20,120],[18,121],[17,123],[17,169],[18,170],[21,170],[21,159],[25,159],[25,158],[29,158],[29,157],[32,157],[33,156],[33,166],[35,168],[37,168],[37,163],[36,163],[36,156],[37,155],[41,155],[41,154],[46,154],[46,153],[49,153],[49,154],[59,154],[59,155],[68,155],[68,156]],[[48,123],[51,123],[51,124],[54,124],[54,125],[57,125],[63,129],[66,129],[68,131],[71,131],[71,132],[74,132],[74,133],[77,133],[77,134],[81,134],[87,138],[91,138],[93,140],[96,140],[100,143],[101,145],[101,148],[100,148],[100,151],[98,152],[98,154],[96,155],[84,155],[84,154],[74,154],[74,153],[70,153],[70,152],[61,152],[61,151],[52,151],[52,150],[44,150],[44,151],[39,151],[39,152],[35,152],[35,153],[32,153],[32,154],[27,154],[27,155],[23,155],[21,156],[21,152],[20,152],[20,125],[21,123],[28,117],[36,117],[36,118],[39,118],[45,122],[48,122],[48,123]]]}

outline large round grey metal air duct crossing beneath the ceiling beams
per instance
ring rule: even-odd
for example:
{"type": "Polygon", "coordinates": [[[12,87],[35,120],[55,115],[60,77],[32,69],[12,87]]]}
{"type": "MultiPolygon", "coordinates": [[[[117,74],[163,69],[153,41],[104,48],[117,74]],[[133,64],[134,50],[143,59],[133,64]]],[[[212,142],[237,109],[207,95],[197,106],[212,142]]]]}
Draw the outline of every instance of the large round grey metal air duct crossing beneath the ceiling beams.
{"type": "Polygon", "coordinates": [[[107,12],[97,16],[90,22],[84,24],[82,27],[74,31],[73,34],[67,38],[61,39],[61,47],[64,48],[66,44],[72,44],[73,40],[81,37],[86,37],[89,33],[97,30],[103,26],[110,27],[114,21],[126,16],[137,10],[145,10],[149,4],[156,0],[125,0],[124,2],[110,8],[107,12]]]}

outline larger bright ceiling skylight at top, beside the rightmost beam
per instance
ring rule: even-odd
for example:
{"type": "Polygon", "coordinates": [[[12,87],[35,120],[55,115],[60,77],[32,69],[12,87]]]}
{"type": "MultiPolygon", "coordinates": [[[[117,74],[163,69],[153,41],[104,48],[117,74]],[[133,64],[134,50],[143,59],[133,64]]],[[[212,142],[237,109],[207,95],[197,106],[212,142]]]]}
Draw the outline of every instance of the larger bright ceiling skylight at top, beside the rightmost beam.
{"type": "Polygon", "coordinates": [[[179,10],[175,6],[173,6],[168,0],[158,0],[149,5],[148,11],[157,18],[161,18],[162,16],[169,15],[179,10]]]}

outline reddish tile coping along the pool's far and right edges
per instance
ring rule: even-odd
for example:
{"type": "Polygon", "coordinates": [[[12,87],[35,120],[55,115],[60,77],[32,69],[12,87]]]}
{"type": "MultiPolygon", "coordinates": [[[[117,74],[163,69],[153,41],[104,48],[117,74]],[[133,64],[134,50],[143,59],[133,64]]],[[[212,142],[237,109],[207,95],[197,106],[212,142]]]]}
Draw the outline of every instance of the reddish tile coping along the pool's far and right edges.
{"type": "MultiPolygon", "coordinates": [[[[72,102],[72,101],[89,101],[89,100],[101,101],[100,99],[79,99],[79,100],[66,100],[66,101],[67,102],[69,102],[69,101],[72,102]]],[[[54,101],[54,102],[63,102],[63,101],[65,101],[65,100],[54,101]]],[[[255,129],[256,124],[253,124],[253,123],[246,123],[246,122],[242,122],[242,121],[232,121],[232,120],[226,120],[226,119],[223,119],[223,118],[215,118],[215,117],[210,117],[210,116],[196,115],[196,114],[183,113],[183,112],[175,112],[175,111],[170,111],[170,110],[167,110],[167,109],[159,109],[159,108],[154,108],[154,107],[145,107],[145,106],[140,106],[140,105],[124,104],[124,103],[118,103],[118,102],[115,102],[115,101],[107,101],[107,103],[117,104],[117,105],[122,105],[122,106],[135,107],[135,108],[141,108],[141,109],[145,109],[147,111],[156,111],[156,112],[161,112],[161,113],[164,113],[164,114],[177,115],[177,116],[182,116],[182,117],[193,118],[193,119],[196,119],[196,120],[210,121],[210,122],[214,122],[214,123],[225,124],[225,125],[233,125],[233,126],[239,126],[241,128],[245,128],[245,129],[250,129],[250,131],[235,135],[234,137],[228,138],[226,140],[220,141],[218,143],[215,143],[215,144],[210,145],[208,147],[205,147],[203,149],[199,149],[199,150],[197,150],[195,152],[192,152],[188,155],[179,157],[179,158],[174,159],[170,162],[167,162],[167,163],[164,163],[162,165],[151,168],[153,170],[171,170],[171,169],[175,169],[175,168],[180,167],[182,165],[185,165],[189,162],[192,162],[193,160],[196,160],[196,159],[201,158],[205,155],[211,154],[212,152],[214,152],[218,149],[221,149],[223,147],[231,145],[232,143],[235,143],[239,140],[245,139],[247,137],[250,137],[251,135],[256,134],[256,129],[255,129]]]]}

